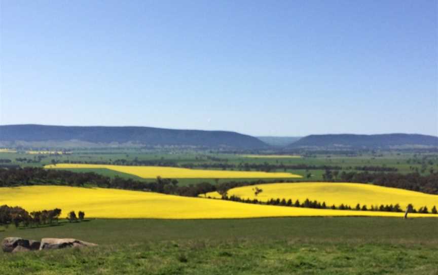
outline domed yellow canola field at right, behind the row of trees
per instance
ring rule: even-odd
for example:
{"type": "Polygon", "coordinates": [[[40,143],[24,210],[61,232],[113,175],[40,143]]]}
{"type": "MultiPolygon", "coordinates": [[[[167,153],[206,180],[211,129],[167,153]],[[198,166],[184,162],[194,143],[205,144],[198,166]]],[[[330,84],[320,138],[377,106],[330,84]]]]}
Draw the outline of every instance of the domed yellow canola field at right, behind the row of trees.
{"type": "MultiPolygon", "coordinates": [[[[417,210],[420,207],[427,206],[429,212],[433,205],[438,208],[438,195],[360,183],[309,182],[259,184],[233,188],[227,194],[228,196],[239,196],[242,199],[257,198],[261,201],[267,201],[271,198],[285,198],[286,200],[290,198],[294,202],[297,199],[303,202],[308,198],[321,203],[324,201],[327,205],[335,204],[338,206],[344,203],[352,208],[357,203],[360,203],[360,205],[366,204],[368,208],[371,208],[371,205],[380,206],[381,204],[398,203],[402,209],[406,209],[407,205],[412,203],[417,210]],[[263,190],[257,196],[254,195],[253,190],[256,186],[263,190]]],[[[221,197],[217,192],[209,192],[206,196],[212,198],[221,197]]]]}

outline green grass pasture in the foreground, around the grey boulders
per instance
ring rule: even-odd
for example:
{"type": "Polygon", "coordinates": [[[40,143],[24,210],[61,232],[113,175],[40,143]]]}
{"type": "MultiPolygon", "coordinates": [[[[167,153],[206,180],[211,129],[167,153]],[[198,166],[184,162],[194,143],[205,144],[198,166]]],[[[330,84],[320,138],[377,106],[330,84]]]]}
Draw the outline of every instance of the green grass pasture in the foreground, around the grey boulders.
{"type": "Polygon", "coordinates": [[[91,220],[0,238],[75,237],[97,248],[6,254],[0,274],[437,274],[432,218],[91,220]]]}

